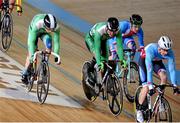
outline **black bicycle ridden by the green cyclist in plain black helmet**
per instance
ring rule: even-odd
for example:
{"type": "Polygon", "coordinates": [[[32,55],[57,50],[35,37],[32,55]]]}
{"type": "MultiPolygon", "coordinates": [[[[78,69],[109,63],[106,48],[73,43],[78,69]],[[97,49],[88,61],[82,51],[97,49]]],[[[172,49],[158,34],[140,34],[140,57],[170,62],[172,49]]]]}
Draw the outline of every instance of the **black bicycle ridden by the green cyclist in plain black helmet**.
{"type": "Polygon", "coordinates": [[[102,99],[107,100],[110,111],[115,116],[119,115],[123,107],[123,90],[115,74],[116,63],[114,61],[104,63],[104,76],[100,83],[97,81],[95,63],[93,66],[91,64],[90,61],[86,61],[82,68],[82,86],[87,99],[93,102],[101,93],[102,99]]]}

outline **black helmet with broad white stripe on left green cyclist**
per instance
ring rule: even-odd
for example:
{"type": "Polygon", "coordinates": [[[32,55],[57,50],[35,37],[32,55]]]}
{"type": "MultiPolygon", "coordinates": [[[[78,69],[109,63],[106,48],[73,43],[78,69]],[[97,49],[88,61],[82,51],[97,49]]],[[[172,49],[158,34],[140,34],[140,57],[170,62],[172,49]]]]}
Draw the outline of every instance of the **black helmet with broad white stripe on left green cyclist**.
{"type": "Polygon", "coordinates": [[[56,18],[52,14],[47,14],[44,17],[44,25],[46,28],[54,30],[57,26],[56,18]]]}

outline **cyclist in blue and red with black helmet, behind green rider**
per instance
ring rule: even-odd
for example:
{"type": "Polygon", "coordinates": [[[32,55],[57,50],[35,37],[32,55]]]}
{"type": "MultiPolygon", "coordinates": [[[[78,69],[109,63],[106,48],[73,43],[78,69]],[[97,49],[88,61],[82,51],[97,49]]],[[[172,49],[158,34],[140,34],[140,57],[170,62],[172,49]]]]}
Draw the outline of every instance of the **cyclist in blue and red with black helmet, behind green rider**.
{"type": "MultiPolygon", "coordinates": [[[[138,37],[139,46],[141,49],[141,54],[144,55],[144,33],[141,27],[143,23],[143,19],[138,14],[133,14],[130,17],[130,20],[123,20],[119,22],[119,29],[122,32],[122,40],[125,46],[129,49],[136,50],[136,43],[134,41],[134,37],[138,37]]],[[[111,56],[110,59],[116,59],[116,37],[113,37],[108,40],[111,56]]],[[[131,58],[133,59],[135,52],[131,54],[131,58]]]]}

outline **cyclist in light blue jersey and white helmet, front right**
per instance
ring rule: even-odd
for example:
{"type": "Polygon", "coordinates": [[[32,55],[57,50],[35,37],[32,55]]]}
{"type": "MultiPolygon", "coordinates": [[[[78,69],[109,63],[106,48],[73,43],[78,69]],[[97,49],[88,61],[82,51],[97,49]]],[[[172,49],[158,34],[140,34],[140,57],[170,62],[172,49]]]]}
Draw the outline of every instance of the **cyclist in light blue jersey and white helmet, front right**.
{"type": "Polygon", "coordinates": [[[150,43],[145,47],[146,57],[139,59],[140,79],[142,90],[139,95],[139,105],[137,106],[137,121],[143,122],[142,106],[147,93],[153,95],[153,71],[160,77],[161,84],[167,82],[167,72],[162,60],[168,61],[171,83],[174,85],[174,94],[179,94],[176,82],[176,67],[174,52],[171,49],[172,41],[168,36],[161,36],[158,43],[150,43]]]}

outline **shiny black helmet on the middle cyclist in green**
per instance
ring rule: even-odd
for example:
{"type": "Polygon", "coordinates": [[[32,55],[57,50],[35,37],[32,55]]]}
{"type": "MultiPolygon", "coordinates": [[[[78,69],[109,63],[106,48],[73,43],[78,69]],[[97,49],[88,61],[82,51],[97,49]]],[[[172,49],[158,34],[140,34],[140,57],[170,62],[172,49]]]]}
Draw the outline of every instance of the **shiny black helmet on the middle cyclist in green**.
{"type": "Polygon", "coordinates": [[[117,18],[115,17],[110,17],[107,20],[107,28],[108,30],[112,31],[112,32],[116,32],[119,30],[119,21],[117,18]]]}

